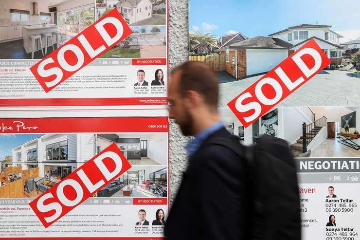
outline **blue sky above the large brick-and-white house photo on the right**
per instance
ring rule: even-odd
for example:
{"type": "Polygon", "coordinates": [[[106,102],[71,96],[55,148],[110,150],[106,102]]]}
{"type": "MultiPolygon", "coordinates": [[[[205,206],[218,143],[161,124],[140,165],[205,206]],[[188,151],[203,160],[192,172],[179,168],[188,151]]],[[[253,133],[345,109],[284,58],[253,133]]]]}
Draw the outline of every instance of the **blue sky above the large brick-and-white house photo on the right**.
{"type": "Polygon", "coordinates": [[[189,0],[189,31],[255,37],[307,23],[331,25],[342,43],[360,39],[359,9],[359,0],[189,0]]]}

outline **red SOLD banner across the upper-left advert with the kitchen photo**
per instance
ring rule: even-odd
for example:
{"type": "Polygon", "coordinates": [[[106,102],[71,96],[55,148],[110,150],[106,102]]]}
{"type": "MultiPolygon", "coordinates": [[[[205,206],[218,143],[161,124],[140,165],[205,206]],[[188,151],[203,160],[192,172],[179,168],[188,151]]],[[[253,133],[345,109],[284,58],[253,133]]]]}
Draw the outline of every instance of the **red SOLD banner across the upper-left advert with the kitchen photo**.
{"type": "Polygon", "coordinates": [[[45,92],[105,53],[132,33],[117,9],[91,24],[30,68],[45,92]]]}

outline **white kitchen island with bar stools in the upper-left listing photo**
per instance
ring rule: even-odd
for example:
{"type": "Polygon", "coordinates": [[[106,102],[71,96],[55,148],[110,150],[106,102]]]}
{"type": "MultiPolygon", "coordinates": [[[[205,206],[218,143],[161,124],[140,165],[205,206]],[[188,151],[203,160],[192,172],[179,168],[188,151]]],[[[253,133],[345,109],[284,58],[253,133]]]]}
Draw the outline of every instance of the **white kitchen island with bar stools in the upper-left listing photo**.
{"type": "MultiPolygon", "coordinates": [[[[27,54],[31,53],[30,45],[30,36],[40,35],[42,33],[52,33],[58,31],[57,25],[55,24],[46,24],[46,25],[32,25],[32,26],[23,26],[22,36],[24,38],[24,48],[27,54]]],[[[45,38],[42,37],[42,47],[45,47],[45,38]]],[[[53,36],[53,42],[56,44],[56,37],[53,36]]],[[[40,42],[36,41],[36,51],[40,50],[40,42]]]]}

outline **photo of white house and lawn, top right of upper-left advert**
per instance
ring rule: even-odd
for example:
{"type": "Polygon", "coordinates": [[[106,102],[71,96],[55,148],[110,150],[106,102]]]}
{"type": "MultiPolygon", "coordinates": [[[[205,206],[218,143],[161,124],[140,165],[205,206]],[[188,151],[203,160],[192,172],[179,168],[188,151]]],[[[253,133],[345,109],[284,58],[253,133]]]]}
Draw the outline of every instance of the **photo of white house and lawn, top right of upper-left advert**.
{"type": "Polygon", "coordinates": [[[96,0],[97,19],[117,9],[130,26],[166,24],[166,0],[96,0]]]}

